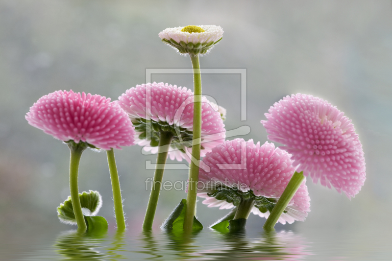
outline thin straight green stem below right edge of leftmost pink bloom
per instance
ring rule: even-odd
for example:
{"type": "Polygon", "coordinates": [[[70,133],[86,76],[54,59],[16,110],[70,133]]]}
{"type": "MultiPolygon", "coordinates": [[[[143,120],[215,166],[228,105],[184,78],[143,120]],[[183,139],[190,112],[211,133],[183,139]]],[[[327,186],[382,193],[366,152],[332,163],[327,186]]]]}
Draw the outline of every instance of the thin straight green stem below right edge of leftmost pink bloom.
{"type": "Polygon", "coordinates": [[[121,197],[119,173],[117,171],[114,150],[106,150],[107,163],[109,164],[110,180],[112,181],[114,212],[116,214],[117,229],[125,229],[125,218],[123,211],[123,198],[121,197]]]}

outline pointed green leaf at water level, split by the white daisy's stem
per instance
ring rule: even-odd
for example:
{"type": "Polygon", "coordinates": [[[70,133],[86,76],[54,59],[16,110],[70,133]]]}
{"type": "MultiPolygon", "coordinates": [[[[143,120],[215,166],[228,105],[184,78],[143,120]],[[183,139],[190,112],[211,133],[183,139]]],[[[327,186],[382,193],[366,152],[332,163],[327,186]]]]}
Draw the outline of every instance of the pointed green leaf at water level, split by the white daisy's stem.
{"type": "MultiPolygon", "coordinates": [[[[185,212],[187,209],[187,200],[182,199],[181,202],[174,208],[169,217],[163,222],[161,229],[168,229],[174,232],[182,232],[185,212]]],[[[193,218],[193,231],[199,231],[203,229],[203,225],[196,219],[193,218]]]]}

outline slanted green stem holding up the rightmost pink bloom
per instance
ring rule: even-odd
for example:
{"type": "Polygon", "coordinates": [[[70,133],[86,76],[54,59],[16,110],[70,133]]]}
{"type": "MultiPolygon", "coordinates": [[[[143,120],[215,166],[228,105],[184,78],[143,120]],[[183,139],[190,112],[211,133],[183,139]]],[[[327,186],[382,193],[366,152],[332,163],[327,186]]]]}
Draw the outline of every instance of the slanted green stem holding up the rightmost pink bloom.
{"type": "Polygon", "coordinates": [[[299,173],[296,171],[294,172],[293,176],[289,181],[289,184],[287,184],[286,189],[283,191],[282,196],[279,198],[278,202],[273,207],[270,216],[267,218],[267,221],[263,226],[265,230],[273,229],[276,222],[278,222],[280,215],[286,209],[287,205],[289,204],[290,200],[293,198],[295,192],[298,190],[304,178],[305,177],[303,175],[303,171],[299,173]]]}

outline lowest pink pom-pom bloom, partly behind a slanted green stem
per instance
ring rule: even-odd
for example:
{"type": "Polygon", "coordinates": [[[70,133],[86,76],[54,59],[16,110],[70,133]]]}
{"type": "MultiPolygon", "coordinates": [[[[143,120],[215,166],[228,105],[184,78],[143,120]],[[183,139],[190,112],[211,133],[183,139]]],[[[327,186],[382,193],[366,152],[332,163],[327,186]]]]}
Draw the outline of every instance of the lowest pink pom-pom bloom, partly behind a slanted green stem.
{"type": "MultiPolygon", "coordinates": [[[[197,195],[206,198],[203,204],[220,209],[234,208],[234,204],[218,200],[210,196],[212,194],[208,191],[219,187],[251,191],[257,198],[265,197],[276,203],[295,171],[290,154],[286,151],[275,148],[273,143],[266,142],[260,146],[260,142],[254,144],[253,140],[245,142],[243,139],[225,141],[214,147],[201,164],[209,166],[210,171],[206,172],[200,167],[197,195]]],[[[295,220],[305,220],[310,212],[310,198],[305,182],[301,183],[278,222],[291,224],[295,220]]],[[[263,212],[257,206],[252,208],[253,214],[268,218],[270,211],[264,209],[263,212]]]]}

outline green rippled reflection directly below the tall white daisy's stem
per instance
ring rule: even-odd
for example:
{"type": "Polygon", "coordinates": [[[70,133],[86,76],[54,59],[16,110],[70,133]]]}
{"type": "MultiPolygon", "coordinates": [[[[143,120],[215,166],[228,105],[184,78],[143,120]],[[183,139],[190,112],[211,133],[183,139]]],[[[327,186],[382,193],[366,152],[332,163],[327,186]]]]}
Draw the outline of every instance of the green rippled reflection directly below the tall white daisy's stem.
{"type": "Polygon", "coordinates": [[[166,260],[188,260],[194,259],[196,255],[197,248],[200,246],[195,245],[196,236],[199,233],[193,232],[189,234],[187,232],[173,232],[166,231],[165,235],[169,239],[169,245],[165,246],[165,248],[173,250],[176,254],[176,257],[166,258],[166,260]]]}

